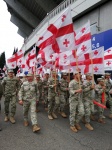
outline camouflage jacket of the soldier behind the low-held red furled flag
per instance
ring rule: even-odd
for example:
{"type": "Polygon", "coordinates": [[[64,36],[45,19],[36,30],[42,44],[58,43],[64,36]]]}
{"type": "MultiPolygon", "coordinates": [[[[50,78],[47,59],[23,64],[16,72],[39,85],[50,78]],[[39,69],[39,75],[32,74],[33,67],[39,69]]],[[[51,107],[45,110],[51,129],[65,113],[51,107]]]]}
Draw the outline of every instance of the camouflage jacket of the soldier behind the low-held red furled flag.
{"type": "Polygon", "coordinates": [[[97,84],[95,86],[95,98],[97,99],[102,99],[102,93],[104,92],[104,89],[102,89],[102,86],[97,84]]]}

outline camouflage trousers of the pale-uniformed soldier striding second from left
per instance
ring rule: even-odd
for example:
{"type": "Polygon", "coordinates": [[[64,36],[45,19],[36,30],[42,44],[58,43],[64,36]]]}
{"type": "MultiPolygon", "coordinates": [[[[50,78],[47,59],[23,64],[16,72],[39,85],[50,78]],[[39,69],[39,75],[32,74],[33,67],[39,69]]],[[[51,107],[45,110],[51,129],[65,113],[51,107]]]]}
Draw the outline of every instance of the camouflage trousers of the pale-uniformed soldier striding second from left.
{"type": "Polygon", "coordinates": [[[23,115],[24,115],[24,121],[28,121],[28,112],[30,109],[30,117],[32,125],[37,124],[37,113],[36,113],[36,101],[30,100],[30,101],[23,101],[23,115]]]}

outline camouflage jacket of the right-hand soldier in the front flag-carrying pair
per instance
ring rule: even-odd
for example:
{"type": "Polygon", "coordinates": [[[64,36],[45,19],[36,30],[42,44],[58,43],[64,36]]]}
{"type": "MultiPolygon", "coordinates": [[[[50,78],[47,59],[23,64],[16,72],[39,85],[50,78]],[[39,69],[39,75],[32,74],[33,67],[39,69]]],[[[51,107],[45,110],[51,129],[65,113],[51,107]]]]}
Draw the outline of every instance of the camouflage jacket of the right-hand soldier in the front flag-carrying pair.
{"type": "Polygon", "coordinates": [[[83,98],[89,98],[90,100],[92,99],[92,89],[91,89],[92,83],[91,81],[84,80],[83,82],[83,98]]]}

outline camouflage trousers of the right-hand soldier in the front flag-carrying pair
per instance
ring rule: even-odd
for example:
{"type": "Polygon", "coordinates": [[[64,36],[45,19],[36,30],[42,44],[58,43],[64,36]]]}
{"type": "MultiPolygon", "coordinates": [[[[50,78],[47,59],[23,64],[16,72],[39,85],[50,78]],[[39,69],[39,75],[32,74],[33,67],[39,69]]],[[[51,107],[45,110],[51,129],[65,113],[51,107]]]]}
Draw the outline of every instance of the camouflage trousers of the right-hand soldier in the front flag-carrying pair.
{"type": "Polygon", "coordinates": [[[83,99],[84,117],[87,123],[90,123],[90,115],[94,114],[94,104],[90,99],[83,99]]]}

